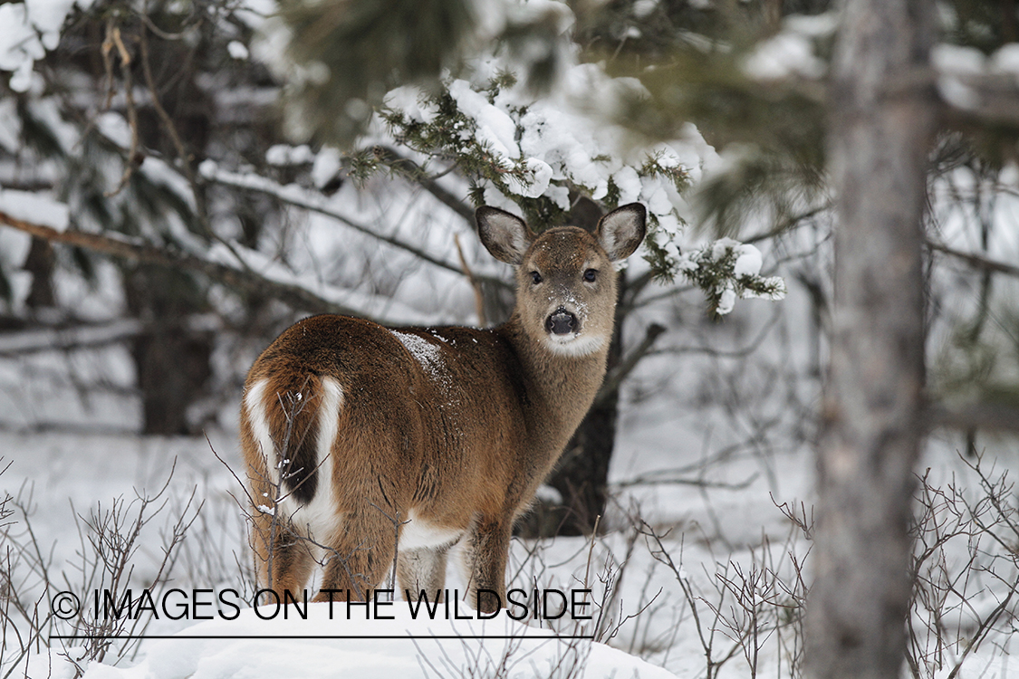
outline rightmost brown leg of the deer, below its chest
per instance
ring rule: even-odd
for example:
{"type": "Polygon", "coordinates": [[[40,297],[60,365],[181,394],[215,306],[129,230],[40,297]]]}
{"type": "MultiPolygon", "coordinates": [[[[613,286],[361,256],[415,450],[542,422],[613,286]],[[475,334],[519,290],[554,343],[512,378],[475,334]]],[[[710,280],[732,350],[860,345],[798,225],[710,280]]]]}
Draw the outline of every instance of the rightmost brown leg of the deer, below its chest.
{"type": "Polygon", "coordinates": [[[464,565],[469,577],[468,603],[479,611],[493,613],[505,606],[506,558],[512,531],[509,520],[482,519],[467,536],[464,565]]]}

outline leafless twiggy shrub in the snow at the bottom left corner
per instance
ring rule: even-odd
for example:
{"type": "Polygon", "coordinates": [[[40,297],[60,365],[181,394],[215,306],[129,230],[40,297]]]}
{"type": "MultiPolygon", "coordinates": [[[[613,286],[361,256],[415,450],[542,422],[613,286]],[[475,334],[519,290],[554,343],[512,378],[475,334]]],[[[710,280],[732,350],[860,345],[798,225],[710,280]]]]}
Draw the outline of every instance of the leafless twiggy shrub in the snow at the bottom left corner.
{"type": "Polygon", "coordinates": [[[103,661],[107,654],[125,658],[135,653],[152,618],[140,615],[143,602],[158,601],[170,581],[180,553],[180,545],[201,503],[195,491],[171,513],[170,480],[155,494],[136,492],[135,498],[116,498],[106,508],[97,504],[88,515],[74,514],[78,549],[75,561],[57,570],[53,565],[55,546],[44,545],[33,527],[35,512],[32,488],[22,488],[16,497],[6,496],[0,512],[6,520],[2,528],[4,552],[0,562],[0,591],[3,615],[0,632],[0,676],[3,679],[28,676],[30,656],[50,653],[66,658],[81,676],[91,661],[103,661]],[[9,505],[9,508],[8,508],[9,505]],[[160,530],[160,554],[146,576],[136,573],[135,564],[150,525],[165,517],[160,530]],[[11,520],[16,516],[17,520],[11,520]],[[99,592],[96,600],[88,595],[99,592]],[[86,601],[82,601],[82,599],[86,601]],[[97,610],[98,608],[98,610],[97,610]]]}

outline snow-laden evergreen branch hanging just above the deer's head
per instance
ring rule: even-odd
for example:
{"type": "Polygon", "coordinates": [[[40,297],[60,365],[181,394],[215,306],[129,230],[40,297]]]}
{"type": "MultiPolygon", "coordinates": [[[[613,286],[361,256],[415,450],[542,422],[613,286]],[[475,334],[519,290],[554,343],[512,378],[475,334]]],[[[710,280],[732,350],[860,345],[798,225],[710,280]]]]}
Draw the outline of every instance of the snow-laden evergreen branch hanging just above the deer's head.
{"type": "Polygon", "coordinates": [[[378,146],[409,150],[426,172],[455,165],[476,205],[516,210],[546,225],[565,223],[578,195],[606,210],[640,202],[649,217],[644,259],[656,278],[688,278],[718,315],[738,297],[781,299],[785,283],[760,276],[762,258],[752,245],[727,238],[681,253],[691,214],[684,192],[718,157],[693,125],[680,138],[648,143],[611,122],[639,88],[597,64],[575,64],[555,93],[535,96],[513,64],[489,57],[471,79],[447,77],[437,92],[409,86],[389,92],[356,172],[367,177],[380,169],[378,146]]]}

